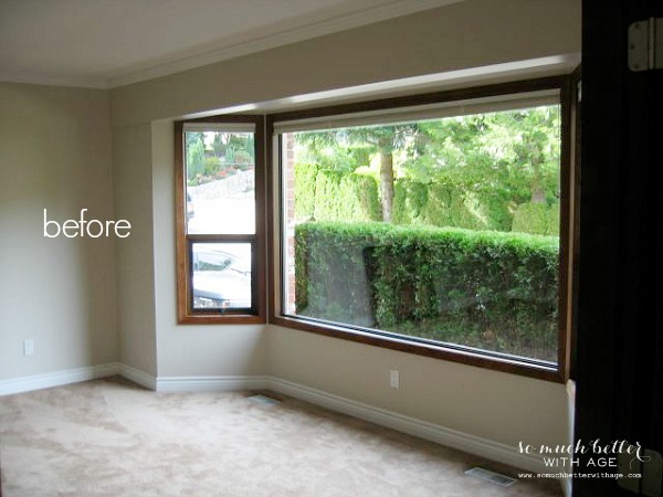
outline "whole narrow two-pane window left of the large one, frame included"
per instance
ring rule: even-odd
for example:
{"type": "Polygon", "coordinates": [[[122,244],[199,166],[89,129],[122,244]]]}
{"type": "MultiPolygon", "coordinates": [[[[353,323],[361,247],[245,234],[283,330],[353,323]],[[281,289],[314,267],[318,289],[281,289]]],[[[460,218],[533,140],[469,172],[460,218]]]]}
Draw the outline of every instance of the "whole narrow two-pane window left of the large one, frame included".
{"type": "Polygon", "coordinates": [[[180,322],[264,321],[260,117],[178,123],[180,322]]]}

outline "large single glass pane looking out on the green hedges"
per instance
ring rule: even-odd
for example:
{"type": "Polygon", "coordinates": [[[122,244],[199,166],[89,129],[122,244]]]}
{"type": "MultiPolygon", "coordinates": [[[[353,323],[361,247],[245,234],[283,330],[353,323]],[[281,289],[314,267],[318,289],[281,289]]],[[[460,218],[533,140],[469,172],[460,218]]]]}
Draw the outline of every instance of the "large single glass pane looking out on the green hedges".
{"type": "Polygon", "coordinates": [[[284,314],[557,361],[559,105],[282,144],[284,314]]]}

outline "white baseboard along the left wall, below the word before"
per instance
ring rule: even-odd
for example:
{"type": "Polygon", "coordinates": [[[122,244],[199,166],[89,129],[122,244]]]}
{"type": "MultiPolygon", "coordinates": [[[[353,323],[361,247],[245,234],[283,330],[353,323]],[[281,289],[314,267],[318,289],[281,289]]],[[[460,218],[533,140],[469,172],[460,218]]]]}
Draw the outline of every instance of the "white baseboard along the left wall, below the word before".
{"type": "Polygon", "coordinates": [[[122,364],[119,362],[109,362],[107,364],[90,366],[86,368],[67,369],[44,374],[34,374],[30,377],[12,378],[11,380],[0,380],[0,395],[10,395],[12,393],[30,392],[32,390],[50,389],[81,381],[95,380],[97,378],[112,377],[119,374],[122,364]]]}

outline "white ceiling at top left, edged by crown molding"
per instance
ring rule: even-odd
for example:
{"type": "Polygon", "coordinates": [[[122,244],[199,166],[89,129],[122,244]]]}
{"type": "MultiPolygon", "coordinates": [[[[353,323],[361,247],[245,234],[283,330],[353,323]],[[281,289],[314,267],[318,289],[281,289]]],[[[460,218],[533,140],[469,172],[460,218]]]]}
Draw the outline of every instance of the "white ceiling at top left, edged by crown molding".
{"type": "Polygon", "coordinates": [[[108,88],[463,0],[0,0],[0,81],[108,88]]]}

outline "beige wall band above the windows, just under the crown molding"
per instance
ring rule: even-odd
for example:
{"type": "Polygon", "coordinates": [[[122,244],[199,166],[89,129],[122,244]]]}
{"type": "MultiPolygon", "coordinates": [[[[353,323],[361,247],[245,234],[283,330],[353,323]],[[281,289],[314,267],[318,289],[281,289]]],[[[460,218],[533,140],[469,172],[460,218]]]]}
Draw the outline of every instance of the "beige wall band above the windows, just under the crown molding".
{"type": "Polygon", "coordinates": [[[465,0],[114,89],[113,120],[579,52],[579,0],[465,0]]]}

